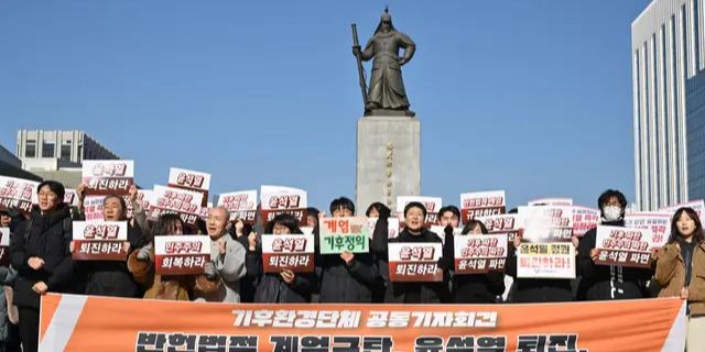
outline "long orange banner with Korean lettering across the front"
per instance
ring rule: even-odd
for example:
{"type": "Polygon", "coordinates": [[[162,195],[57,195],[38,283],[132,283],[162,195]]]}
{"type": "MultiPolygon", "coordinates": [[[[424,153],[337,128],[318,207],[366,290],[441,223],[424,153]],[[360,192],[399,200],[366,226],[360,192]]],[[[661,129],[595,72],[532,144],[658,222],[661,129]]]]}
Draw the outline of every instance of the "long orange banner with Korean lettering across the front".
{"type": "Polygon", "coordinates": [[[682,300],[229,305],[42,297],[41,351],[683,351],[682,300]]]}

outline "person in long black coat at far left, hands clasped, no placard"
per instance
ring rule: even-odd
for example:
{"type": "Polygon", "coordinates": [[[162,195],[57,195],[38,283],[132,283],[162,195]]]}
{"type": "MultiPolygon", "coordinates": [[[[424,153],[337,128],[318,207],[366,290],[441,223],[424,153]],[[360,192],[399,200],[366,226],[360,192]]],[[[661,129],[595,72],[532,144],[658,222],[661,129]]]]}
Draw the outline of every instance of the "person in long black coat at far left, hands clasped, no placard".
{"type": "Polygon", "coordinates": [[[66,292],[74,274],[69,244],[72,219],[63,202],[64,186],[45,180],[37,187],[39,206],[10,243],[10,262],[18,271],[14,304],[20,312],[23,351],[36,351],[40,295],[66,292]]]}

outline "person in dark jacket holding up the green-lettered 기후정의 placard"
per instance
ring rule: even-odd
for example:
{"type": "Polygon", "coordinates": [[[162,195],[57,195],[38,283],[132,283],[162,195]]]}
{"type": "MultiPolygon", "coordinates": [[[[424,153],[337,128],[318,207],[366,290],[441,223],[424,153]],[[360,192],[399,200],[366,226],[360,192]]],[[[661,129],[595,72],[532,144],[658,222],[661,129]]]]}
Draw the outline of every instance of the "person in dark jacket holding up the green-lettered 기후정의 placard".
{"type": "MultiPolygon", "coordinates": [[[[330,213],[335,218],[352,217],[355,204],[345,197],[337,198],[330,202],[330,213]]],[[[357,304],[372,301],[372,292],[378,276],[372,254],[352,254],[346,251],[339,255],[318,255],[316,273],[321,283],[318,301],[357,304]]]]}

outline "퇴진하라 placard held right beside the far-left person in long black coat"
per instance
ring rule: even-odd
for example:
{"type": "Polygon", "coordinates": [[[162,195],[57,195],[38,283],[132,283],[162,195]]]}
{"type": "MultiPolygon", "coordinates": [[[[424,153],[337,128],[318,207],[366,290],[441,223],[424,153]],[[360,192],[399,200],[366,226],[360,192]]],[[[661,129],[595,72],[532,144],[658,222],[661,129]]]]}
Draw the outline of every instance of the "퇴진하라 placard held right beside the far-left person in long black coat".
{"type": "Polygon", "coordinates": [[[74,261],[124,261],[127,221],[74,221],[74,261]]]}

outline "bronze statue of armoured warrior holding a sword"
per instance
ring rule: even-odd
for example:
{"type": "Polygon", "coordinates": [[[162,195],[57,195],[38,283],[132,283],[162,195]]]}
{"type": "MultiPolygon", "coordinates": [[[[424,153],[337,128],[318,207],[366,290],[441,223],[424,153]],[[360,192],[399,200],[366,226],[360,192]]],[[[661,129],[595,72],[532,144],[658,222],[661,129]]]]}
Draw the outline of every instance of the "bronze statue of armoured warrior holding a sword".
{"type": "Polygon", "coordinates": [[[352,54],[357,57],[360,74],[365,116],[413,117],[414,112],[409,110],[409,99],[401,78],[401,66],[414,56],[416,45],[406,34],[394,29],[389,10],[384,9],[379,25],[364,51],[357,41],[355,24],[352,24],[352,54]],[[399,56],[400,48],[404,50],[403,56],[399,56]],[[371,58],[373,58],[372,77],[370,88],[367,90],[361,62],[371,58]]]}

